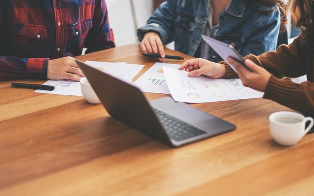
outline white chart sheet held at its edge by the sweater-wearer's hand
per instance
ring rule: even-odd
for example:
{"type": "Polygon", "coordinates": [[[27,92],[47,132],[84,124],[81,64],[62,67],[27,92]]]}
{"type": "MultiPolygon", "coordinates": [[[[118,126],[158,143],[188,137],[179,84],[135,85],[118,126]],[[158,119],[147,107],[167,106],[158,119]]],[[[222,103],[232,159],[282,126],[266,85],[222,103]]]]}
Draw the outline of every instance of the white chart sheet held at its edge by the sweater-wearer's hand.
{"type": "Polygon", "coordinates": [[[262,92],[244,87],[240,79],[191,78],[188,72],[163,67],[169,90],[175,101],[206,103],[263,97],[262,92]]]}

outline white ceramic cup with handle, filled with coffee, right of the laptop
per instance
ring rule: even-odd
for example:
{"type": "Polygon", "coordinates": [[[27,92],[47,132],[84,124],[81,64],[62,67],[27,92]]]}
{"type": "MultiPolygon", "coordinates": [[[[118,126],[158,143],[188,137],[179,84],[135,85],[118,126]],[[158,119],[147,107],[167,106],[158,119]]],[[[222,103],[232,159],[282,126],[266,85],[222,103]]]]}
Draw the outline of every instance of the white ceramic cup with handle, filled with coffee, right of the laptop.
{"type": "Polygon", "coordinates": [[[313,118],[295,112],[275,112],[269,116],[269,130],[274,140],[285,146],[296,144],[313,126],[313,118]],[[310,124],[305,129],[305,123],[310,124]]]}

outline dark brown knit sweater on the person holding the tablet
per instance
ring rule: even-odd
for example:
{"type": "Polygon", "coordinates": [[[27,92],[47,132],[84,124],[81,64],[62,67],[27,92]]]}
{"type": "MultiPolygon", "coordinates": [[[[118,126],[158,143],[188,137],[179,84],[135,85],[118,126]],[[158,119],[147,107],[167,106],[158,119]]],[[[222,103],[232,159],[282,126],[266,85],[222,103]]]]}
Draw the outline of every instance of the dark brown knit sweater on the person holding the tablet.
{"type": "MultiPolygon", "coordinates": [[[[301,44],[300,35],[290,45],[281,45],[276,51],[264,53],[260,56],[248,55],[245,58],[264,67],[272,75],[266,86],[265,99],[273,100],[291,109],[314,115],[314,83],[313,83],[313,55],[301,44]],[[278,76],[296,78],[307,75],[307,82],[301,84],[290,80],[282,80],[278,76]],[[277,76],[277,77],[275,77],[277,76]]],[[[227,75],[224,78],[235,78],[238,75],[226,65],[227,75]]]]}

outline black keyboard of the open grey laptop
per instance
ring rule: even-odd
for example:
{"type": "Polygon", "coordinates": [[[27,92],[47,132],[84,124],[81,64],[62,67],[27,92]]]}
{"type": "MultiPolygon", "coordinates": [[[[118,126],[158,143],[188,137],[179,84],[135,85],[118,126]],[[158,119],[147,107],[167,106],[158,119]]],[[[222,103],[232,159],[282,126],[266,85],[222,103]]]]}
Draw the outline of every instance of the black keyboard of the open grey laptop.
{"type": "Polygon", "coordinates": [[[198,135],[205,134],[205,131],[200,130],[190,124],[187,124],[165,112],[152,108],[155,112],[156,116],[159,118],[166,132],[170,136],[170,138],[181,141],[184,139],[188,139],[190,137],[195,137],[198,135]]]}

